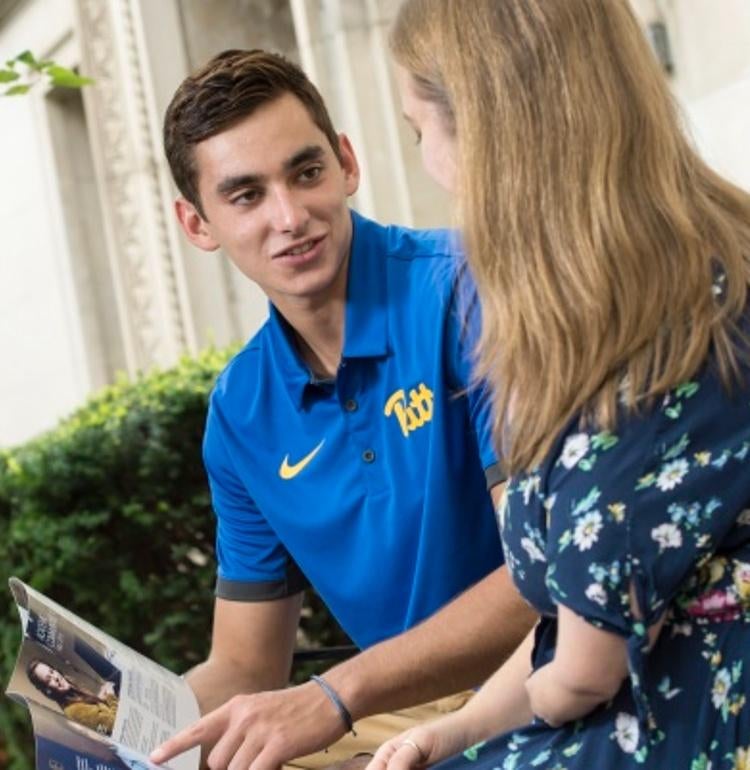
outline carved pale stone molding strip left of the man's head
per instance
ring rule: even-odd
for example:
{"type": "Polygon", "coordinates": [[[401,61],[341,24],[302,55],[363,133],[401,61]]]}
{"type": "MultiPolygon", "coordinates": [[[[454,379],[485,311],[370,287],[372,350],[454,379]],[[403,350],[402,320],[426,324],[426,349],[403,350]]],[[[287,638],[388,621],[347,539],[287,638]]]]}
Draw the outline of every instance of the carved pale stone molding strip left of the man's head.
{"type": "Polygon", "coordinates": [[[128,369],[192,347],[161,197],[147,57],[134,0],[76,0],[86,113],[128,369]]]}

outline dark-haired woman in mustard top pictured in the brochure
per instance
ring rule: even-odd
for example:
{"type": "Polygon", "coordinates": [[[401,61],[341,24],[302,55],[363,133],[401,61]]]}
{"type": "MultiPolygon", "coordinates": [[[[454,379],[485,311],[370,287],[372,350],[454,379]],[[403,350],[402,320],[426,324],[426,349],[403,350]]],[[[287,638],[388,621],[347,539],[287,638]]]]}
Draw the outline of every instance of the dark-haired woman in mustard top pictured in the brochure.
{"type": "Polygon", "coordinates": [[[55,701],[68,719],[98,733],[112,734],[118,698],[111,682],[105,682],[94,695],[77,687],[54,666],[38,658],[29,661],[26,674],[34,687],[55,701]]]}

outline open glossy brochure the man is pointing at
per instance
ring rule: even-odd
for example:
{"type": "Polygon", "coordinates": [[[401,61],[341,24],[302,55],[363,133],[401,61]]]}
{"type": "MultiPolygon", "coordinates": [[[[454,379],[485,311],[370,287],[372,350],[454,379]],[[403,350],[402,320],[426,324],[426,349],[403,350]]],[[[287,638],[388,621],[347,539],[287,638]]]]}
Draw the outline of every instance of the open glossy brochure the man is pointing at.
{"type": "MultiPolygon", "coordinates": [[[[31,712],[37,770],[155,770],[151,750],[199,716],[187,683],[17,578],[10,589],[23,642],[7,694],[31,712]]],[[[168,767],[199,761],[196,748],[168,767]]]]}

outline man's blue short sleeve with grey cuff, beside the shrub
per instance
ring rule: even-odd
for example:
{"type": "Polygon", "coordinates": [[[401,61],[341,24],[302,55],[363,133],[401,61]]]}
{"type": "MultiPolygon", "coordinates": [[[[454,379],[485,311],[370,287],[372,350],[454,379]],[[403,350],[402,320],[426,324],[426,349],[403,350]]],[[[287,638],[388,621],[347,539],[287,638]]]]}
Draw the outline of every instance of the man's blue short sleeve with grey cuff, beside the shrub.
{"type": "Polygon", "coordinates": [[[225,448],[220,410],[209,409],[203,460],[216,514],[216,595],[265,601],[299,593],[307,581],[258,510],[225,448]]]}

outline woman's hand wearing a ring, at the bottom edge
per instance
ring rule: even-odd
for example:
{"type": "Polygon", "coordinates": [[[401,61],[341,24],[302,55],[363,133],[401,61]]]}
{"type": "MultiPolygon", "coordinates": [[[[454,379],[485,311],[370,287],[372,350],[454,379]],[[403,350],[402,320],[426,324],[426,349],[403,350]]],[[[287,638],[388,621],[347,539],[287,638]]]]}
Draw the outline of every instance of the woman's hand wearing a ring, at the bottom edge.
{"type": "Polygon", "coordinates": [[[473,742],[458,711],[391,738],[365,770],[417,770],[463,751],[473,742]]]}

